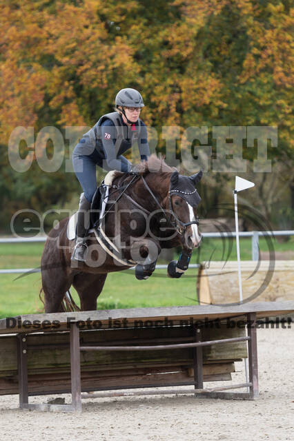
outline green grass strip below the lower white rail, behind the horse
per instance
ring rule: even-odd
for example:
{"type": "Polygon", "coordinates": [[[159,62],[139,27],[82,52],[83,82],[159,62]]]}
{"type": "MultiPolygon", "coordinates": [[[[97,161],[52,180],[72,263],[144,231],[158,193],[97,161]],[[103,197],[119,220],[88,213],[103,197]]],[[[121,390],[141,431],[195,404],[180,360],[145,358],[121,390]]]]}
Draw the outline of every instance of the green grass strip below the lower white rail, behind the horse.
{"type": "MultiPolygon", "coordinates": [[[[17,279],[19,274],[1,274],[0,318],[42,312],[39,300],[40,274],[17,279]],[[17,279],[17,280],[16,280],[17,279]]],[[[179,280],[166,276],[166,270],[155,271],[148,280],[137,280],[135,271],[108,274],[99,296],[99,309],[195,305],[197,269],[189,269],[179,280]]],[[[75,289],[71,293],[77,304],[75,289]]]]}

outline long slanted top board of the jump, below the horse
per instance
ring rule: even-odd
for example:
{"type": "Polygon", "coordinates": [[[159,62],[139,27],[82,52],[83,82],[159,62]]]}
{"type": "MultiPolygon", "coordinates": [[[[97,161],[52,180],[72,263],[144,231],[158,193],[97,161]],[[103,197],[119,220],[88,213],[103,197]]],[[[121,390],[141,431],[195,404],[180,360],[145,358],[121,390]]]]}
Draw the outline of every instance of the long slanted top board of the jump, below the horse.
{"type": "MultiPolygon", "coordinates": [[[[244,292],[246,296],[246,292],[244,292]]],[[[93,326],[93,322],[99,320],[101,322],[101,327],[109,328],[109,318],[111,318],[112,326],[115,327],[114,320],[117,320],[118,327],[131,327],[136,321],[141,320],[143,323],[150,327],[150,320],[157,320],[157,325],[160,323],[164,324],[165,320],[173,321],[173,325],[179,324],[180,320],[204,320],[215,319],[215,318],[226,318],[226,317],[237,317],[244,314],[249,314],[255,312],[257,318],[264,318],[269,316],[277,316],[282,314],[291,314],[294,312],[294,301],[287,302],[249,302],[242,305],[232,305],[232,306],[215,306],[215,305],[193,305],[193,306],[183,306],[183,307],[158,307],[158,308],[134,308],[134,309],[110,309],[110,310],[99,310],[99,311],[84,311],[84,312],[63,312],[56,314],[30,314],[26,316],[19,316],[19,322],[21,322],[20,327],[8,328],[6,326],[6,319],[0,320],[0,334],[11,334],[19,332],[33,332],[40,331],[40,329],[34,329],[32,327],[24,327],[23,321],[29,320],[33,322],[34,320],[39,320],[43,323],[44,320],[48,320],[51,324],[51,328],[41,329],[45,332],[50,332],[53,329],[52,321],[57,320],[60,323],[59,330],[69,329],[67,320],[79,321],[84,320],[85,326],[88,319],[89,326],[93,326]]],[[[16,319],[17,320],[17,319],[16,319]]],[[[153,323],[155,326],[156,324],[153,323]]],[[[100,324],[99,324],[100,325],[100,324]]],[[[53,329],[56,331],[57,329],[53,329]]]]}

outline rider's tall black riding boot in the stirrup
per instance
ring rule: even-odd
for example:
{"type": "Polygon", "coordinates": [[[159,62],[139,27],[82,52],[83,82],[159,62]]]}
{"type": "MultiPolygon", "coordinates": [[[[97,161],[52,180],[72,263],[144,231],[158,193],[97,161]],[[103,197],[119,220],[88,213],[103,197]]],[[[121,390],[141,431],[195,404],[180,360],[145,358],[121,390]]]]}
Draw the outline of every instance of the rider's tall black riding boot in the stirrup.
{"type": "Polygon", "coordinates": [[[84,193],[82,193],[79,200],[79,211],[77,214],[75,248],[72,251],[70,260],[77,260],[79,262],[85,261],[84,254],[88,248],[86,236],[90,227],[90,206],[91,203],[85,198],[84,193]]]}

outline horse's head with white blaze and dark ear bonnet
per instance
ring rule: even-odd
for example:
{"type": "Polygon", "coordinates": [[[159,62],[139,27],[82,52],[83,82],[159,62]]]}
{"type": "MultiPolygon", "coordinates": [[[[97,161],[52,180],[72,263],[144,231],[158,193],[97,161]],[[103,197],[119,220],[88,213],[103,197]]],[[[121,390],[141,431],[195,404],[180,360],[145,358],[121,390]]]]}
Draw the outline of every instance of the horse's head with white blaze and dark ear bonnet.
{"type": "Polygon", "coordinates": [[[195,189],[201,178],[201,171],[192,176],[182,176],[173,172],[170,177],[168,198],[171,219],[181,236],[182,245],[187,249],[199,247],[202,238],[198,230],[197,216],[197,206],[201,198],[195,189]]]}

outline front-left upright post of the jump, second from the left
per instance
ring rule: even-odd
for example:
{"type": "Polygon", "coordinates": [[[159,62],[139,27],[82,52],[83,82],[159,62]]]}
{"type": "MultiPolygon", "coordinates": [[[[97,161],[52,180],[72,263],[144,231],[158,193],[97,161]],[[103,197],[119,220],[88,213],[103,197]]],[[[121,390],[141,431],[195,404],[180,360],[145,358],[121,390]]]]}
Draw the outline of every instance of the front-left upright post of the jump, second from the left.
{"type": "Polygon", "coordinates": [[[70,373],[72,382],[72,407],[81,412],[81,351],[79,349],[79,328],[70,325],[70,373]]]}

